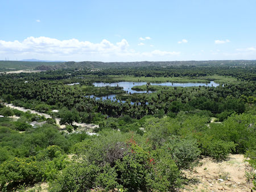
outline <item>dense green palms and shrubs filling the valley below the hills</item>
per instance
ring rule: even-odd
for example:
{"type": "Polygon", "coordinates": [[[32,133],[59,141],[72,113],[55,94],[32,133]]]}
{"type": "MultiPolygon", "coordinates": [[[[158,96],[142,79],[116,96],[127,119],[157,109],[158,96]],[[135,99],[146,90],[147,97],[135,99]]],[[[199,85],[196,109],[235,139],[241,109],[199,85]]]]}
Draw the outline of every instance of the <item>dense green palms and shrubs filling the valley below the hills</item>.
{"type": "Polygon", "coordinates": [[[0,74],[2,191],[42,181],[49,191],[177,191],[183,170],[230,153],[255,169],[255,61],[47,66],[0,74]]]}

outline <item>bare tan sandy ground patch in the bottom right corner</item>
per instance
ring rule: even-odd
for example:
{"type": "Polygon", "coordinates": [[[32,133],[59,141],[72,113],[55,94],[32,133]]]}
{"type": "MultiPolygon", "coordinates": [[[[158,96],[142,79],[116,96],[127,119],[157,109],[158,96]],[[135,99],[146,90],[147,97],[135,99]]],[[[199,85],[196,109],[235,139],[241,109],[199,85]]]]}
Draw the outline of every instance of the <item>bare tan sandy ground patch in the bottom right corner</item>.
{"type": "Polygon", "coordinates": [[[247,181],[245,172],[253,168],[244,161],[243,155],[230,155],[228,161],[214,162],[209,157],[200,160],[200,166],[185,170],[189,185],[181,191],[251,191],[253,183],[247,181]]]}

